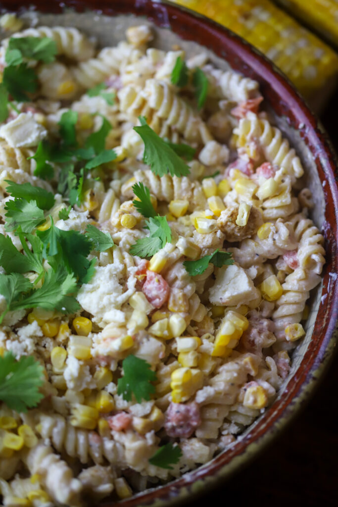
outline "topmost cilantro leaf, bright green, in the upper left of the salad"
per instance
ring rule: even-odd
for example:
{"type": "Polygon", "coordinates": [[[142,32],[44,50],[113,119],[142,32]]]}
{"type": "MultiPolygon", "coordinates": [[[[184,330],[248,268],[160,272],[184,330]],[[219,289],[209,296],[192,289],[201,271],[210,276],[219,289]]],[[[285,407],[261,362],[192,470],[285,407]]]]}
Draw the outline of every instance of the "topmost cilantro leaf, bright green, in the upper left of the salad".
{"type": "Polygon", "coordinates": [[[56,53],[56,43],[48,37],[11,37],[5,58],[9,65],[21,63],[22,57],[52,63],[55,60],[56,53]],[[10,57],[10,61],[8,61],[8,57],[10,57]],[[17,62],[13,63],[13,59],[17,62]]]}

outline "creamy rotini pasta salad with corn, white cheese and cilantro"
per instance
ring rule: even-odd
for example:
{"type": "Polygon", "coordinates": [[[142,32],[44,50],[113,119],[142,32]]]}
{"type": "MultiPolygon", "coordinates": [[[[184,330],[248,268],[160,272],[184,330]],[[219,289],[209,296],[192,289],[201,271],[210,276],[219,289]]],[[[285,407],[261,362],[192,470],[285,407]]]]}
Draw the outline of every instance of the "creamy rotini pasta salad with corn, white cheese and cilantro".
{"type": "Polygon", "coordinates": [[[272,404],[323,236],[255,81],[148,25],[0,24],[3,504],[124,499],[272,404]]]}

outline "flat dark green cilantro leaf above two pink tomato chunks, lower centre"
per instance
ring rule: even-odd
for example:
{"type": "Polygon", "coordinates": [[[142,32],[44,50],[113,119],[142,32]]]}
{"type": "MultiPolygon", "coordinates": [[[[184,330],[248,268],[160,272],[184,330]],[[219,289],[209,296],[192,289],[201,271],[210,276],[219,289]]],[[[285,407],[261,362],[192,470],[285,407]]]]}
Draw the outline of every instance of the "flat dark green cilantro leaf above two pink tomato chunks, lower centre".
{"type": "Polygon", "coordinates": [[[154,394],[155,386],[151,384],[157,379],[156,373],[151,370],[151,365],[144,359],[133,354],[128,355],[122,361],[124,376],[118,380],[118,394],[130,402],[134,394],[137,403],[142,400],[149,401],[150,395],[154,394]]]}

